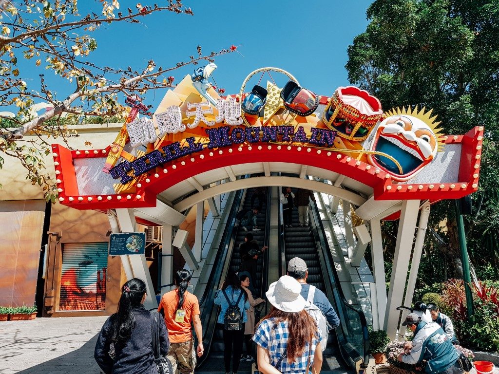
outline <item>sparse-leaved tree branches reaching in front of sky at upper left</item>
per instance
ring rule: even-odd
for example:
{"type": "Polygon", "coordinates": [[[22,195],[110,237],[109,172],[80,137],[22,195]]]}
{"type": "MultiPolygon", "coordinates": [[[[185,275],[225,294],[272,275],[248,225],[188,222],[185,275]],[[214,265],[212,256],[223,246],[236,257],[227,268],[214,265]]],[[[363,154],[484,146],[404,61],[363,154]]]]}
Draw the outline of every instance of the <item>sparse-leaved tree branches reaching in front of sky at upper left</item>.
{"type": "Polygon", "coordinates": [[[132,27],[160,11],[194,15],[181,0],[163,0],[161,6],[137,3],[134,9],[124,10],[120,10],[118,0],[99,2],[92,11],[80,14],[78,0],[0,0],[0,107],[18,108],[16,116],[0,115],[0,169],[2,154],[17,158],[27,170],[27,179],[43,187],[47,201],[55,201],[57,192],[44,170],[43,155],[50,153],[44,137],[60,136],[65,141],[68,124],[85,116],[124,119],[126,108],[118,102],[118,93],[134,95],[174,87],[172,70],[205,60],[211,62],[215,56],[236,49],[232,46],[203,55],[198,46],[187,62],[167,68],[157,66],[153,60],[137,70],[130,66],[99,66],[90,57],[97,48],[92,34],[102,24],[128,22],[132,27]],[[33,60],[33,68],[40,69],[39,90],[28,87],[29,80],[23,79],[32,77],[33,72],[22,71],[18,64],[22,59],[33,60]],[[73,92],[59,100],[54,87],[45,83],[46,70],[73,84],[73,92]],[[46,102],[51,109],[36,116],[35,101],[46,102]],[[69,114],[69,119],[62,119],[63,114],[69,114]],[[38,139],[24,139],[28,132],[38,135],[38,139]]]}

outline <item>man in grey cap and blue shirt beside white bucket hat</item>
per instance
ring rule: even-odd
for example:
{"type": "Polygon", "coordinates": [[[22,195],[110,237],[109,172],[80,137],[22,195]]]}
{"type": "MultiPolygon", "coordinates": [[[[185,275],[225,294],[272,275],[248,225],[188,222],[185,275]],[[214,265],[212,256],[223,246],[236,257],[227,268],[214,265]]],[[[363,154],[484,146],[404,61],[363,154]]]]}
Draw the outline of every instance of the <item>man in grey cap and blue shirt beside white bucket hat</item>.
{"type": "Polygon", "coordinates": [[[307,284],[308,268],[305,261],[299,257],[290,259],[287,263],[287,275],[293,277],[301,284],[301,296],[305,300],[307,300],[308,293],[313,287],[313,291],[315,292],[313,296],[314,305],[324,313],[331,328],[337,328],[340,325],[340,320],[327,296],[317,287],[307,284]]]}

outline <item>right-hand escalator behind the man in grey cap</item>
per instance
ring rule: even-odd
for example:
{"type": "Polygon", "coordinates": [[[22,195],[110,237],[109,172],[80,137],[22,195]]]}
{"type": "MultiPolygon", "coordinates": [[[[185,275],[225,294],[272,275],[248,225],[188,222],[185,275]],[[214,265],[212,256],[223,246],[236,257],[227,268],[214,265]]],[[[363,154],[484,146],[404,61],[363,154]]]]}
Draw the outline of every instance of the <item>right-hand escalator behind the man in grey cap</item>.
{"type": "MultiPolygon", "coordinates": [[[[296,196],[296,188],[292,188],[292,191],[296,196]]],[[[352,371],[359,360],[367,364],[365,316],[348,304],[343,296],[322,221],[313,201],[309,208],[309,227],[299,226],[297,208],[293,209],[292,225],[284,228],[280,222],[281,274],[286,274],[287,263],[291,258],[302,258],[308,267],[307,283],[325,293],[340,319],[340,326],[329,334],[321,373],[352,371]]]]}

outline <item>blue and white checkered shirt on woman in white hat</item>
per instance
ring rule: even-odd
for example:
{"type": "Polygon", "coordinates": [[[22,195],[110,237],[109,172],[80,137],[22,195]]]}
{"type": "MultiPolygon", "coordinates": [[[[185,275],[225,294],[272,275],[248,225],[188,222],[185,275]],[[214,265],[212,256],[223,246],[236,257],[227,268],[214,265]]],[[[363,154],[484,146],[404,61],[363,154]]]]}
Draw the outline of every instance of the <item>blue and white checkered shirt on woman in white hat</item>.
{"type": "MultiPolygon", "coordinates": [[[[268,350],[268,355],[270,356],[270,365],[272,365],[274,368],[287,347],[288,334],[289,332],[287,330],[287,321],[279,322],[276,325],[274,318],[261,321],[254,333],[253,341],[260,347],[268,350]]],[[[288,363],[287,358],[284,358],[280,364],[280,367],[276,369],[279,372],[286,374],[305,373],[307,366],[312,366],[315,348],[317,347],[321,339],[322,336],[320,330],[317,329],[317,333],[312,340],[311,349],[310,343],[306,342],[305,349],[300,357],[295,357],[294,362],[291,364],[288,363]],[[309,354],[310,364],[308,363],[309,354]]]]}

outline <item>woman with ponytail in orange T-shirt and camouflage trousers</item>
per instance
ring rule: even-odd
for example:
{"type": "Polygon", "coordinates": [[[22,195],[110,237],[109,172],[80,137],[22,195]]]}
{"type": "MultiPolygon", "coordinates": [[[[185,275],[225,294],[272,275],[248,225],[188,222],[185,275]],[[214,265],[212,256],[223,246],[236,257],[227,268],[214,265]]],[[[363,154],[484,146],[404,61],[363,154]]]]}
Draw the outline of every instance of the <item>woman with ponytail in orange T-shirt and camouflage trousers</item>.
{"type": "Polygon", "coordinates": [[[187,291],[190,281],[191,273],[188,270],[177,271],[175,289],[163,295],[158,308],[158,312],[165,317],[168,328],[171,346],[166,357],[172,363],[174,373],[178,368],[179,373],[193,374],[196,368],[191,322],[194,322],[198,338],[198,357],[204,352],[198,298],[187,291]]]}

